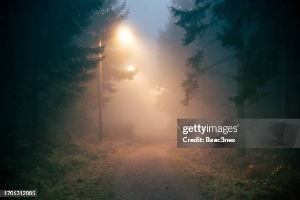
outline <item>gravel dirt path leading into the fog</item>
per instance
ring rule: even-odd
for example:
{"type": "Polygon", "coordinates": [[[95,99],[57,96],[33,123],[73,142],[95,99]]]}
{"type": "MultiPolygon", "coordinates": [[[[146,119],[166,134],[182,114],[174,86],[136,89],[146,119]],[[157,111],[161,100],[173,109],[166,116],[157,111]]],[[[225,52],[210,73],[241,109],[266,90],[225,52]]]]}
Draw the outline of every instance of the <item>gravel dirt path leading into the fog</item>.
{"type": "Polygon", "coordinates": [[[166,156],[175,144],[149,144],[123,158],[115,172],[115,200],[206,200],[175,174],[166,156]]]}

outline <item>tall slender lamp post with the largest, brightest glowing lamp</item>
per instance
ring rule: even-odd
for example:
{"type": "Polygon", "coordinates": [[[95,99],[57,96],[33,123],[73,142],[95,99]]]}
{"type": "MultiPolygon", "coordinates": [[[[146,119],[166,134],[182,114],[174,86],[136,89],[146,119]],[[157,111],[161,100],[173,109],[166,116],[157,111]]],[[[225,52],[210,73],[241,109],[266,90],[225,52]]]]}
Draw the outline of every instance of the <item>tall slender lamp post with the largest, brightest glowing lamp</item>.
{"type": "MultiPolygon", "coordinates": [[[[122,29],[119,32],[119,37],[124,43],[131,42],[131,36],[128,30],[122,29]]],[[[102,47],[101,36],[99,38],[99,47],[102,47]]],[[[99,102],[98,102],[98,142],[103,141],[103,122],[102,122],[102,53],[100,52],[100,65],[98,71],[98,86],[99,86],[99,102]]]]}

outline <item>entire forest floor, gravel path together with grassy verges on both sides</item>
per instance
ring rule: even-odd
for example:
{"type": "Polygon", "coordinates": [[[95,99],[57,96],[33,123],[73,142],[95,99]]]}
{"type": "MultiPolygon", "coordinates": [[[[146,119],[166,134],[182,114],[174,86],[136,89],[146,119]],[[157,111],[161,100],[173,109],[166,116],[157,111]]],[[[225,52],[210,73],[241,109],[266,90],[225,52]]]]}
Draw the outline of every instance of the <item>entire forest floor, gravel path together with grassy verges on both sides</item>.
{"type": "Polygon", "coordinates": [[[265,151],[235,158],[231,149],[177,149],[168,140],[77,141],[1,157],[0,185],[37,188],[45,200],[297,199],[299,170],[265,151]]]}

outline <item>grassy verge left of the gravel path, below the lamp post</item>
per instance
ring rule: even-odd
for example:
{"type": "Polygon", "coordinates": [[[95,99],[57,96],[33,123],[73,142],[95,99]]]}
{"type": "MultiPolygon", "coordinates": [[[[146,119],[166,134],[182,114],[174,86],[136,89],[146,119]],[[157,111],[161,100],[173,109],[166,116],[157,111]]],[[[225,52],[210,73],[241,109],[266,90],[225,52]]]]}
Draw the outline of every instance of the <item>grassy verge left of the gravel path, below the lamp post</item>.
{"type": "Polygon", "coordinates": [[[39,199],[113,198],[113,170],[132,148],[128,140],[93,144],[84,140],[59,147],[20,148],[18,157],[1,156],[2,189],[38,189],[39,199]]]}

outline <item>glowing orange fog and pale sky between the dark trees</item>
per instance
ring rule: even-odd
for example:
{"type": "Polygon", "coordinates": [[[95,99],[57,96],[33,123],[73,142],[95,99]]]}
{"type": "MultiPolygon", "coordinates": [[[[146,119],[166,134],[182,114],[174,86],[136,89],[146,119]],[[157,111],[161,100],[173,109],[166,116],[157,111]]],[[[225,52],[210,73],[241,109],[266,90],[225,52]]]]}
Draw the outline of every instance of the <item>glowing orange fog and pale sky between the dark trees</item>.
{"type": "MultiPolygon", "coordinates": [[[[199,47],[182,47],[180,39],[183,38],[183,31],[172,27],[173,22],[170,22],[171,0],[138,2],[126,1],[130,14],[121,27],[128,28],[133,38],[130,56],[125,59],[123,68],[130,65],[139,72],[133,80],[115,82],[118,91],[111,95],[112,100],[104,109],[104,126],[130,123],[135,126],[135,133],[141,136],[153,136],[155,133],[175,136],[177,118],[217,118],[234,112],[224,108],[224,105],[221,106],[221,102],[225,102],[228,97],[223,90],[226,88],[224,82],[227,85],[231,84],[230,87],[232,83],[228,82],[228,77],[224,79],[217,75],[216,78],[216,73],[208,73],[200,80],[200,92],[189,106],[183,106],[179,102],[184,97],[181,81],[187,71],[185,61],[199,47]],[[163,37],[161,32],[167,31],[167,34],[170,34],[170,30],[166,30],[170,29],[170,26],[176,30],[170,38],[177,37],[175,46],[176,53],[181,51],[179,56],[172,54],[174,49],[170,49],[170,52],[160,52],[162,50],[159,48],[159,37],[163,37]],[[220,88],[222,81],[223,89],[220,88]]],[[[203,40],[200,46],[206,45],[208,39],[203,40]]],[[[161,38],[161,41],[163,40],[164,38],[161,38]]],[[[213,63],[214,59],[220,59],[226,53],[210,50],[207,58],[213,63]]]]}

